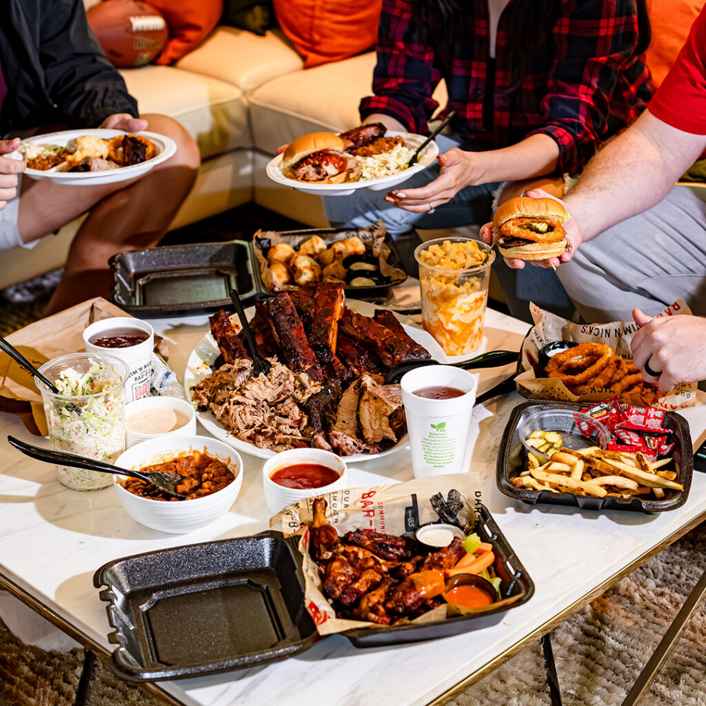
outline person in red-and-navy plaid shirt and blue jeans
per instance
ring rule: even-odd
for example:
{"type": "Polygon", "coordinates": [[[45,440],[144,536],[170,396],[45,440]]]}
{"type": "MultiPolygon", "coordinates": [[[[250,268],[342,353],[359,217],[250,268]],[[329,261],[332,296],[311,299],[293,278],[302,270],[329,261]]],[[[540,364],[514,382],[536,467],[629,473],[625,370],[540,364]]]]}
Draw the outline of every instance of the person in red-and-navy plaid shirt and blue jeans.
{"type": "MultiPolygon", "coordinates": [[[[494,193],[503,200],[527,188],[508,182],[551,175],[563,193],[563,175],[580,172],[650,100],[642,59],[649,42],[644,0],[383,0],[375,95],[362,100],[361,117],[429,133],[438,107],[431,96],[443,79],[455,118],[436,138],[438,164],[387,201],[369,189],[324,198],[328,219],[360,227],[382,218],[399,238],[413,227],[486,222],[494,193]]],[[[416,235],[400,238],[404,249],[405,240],[419,243],[416,235]]],[[[530,283],[539,301],[566,300],[556,275],[544,274],[546,281],[530,283]]],[[[510,311],[525,318],[511,270],[498,275],[510,311]]]]}

